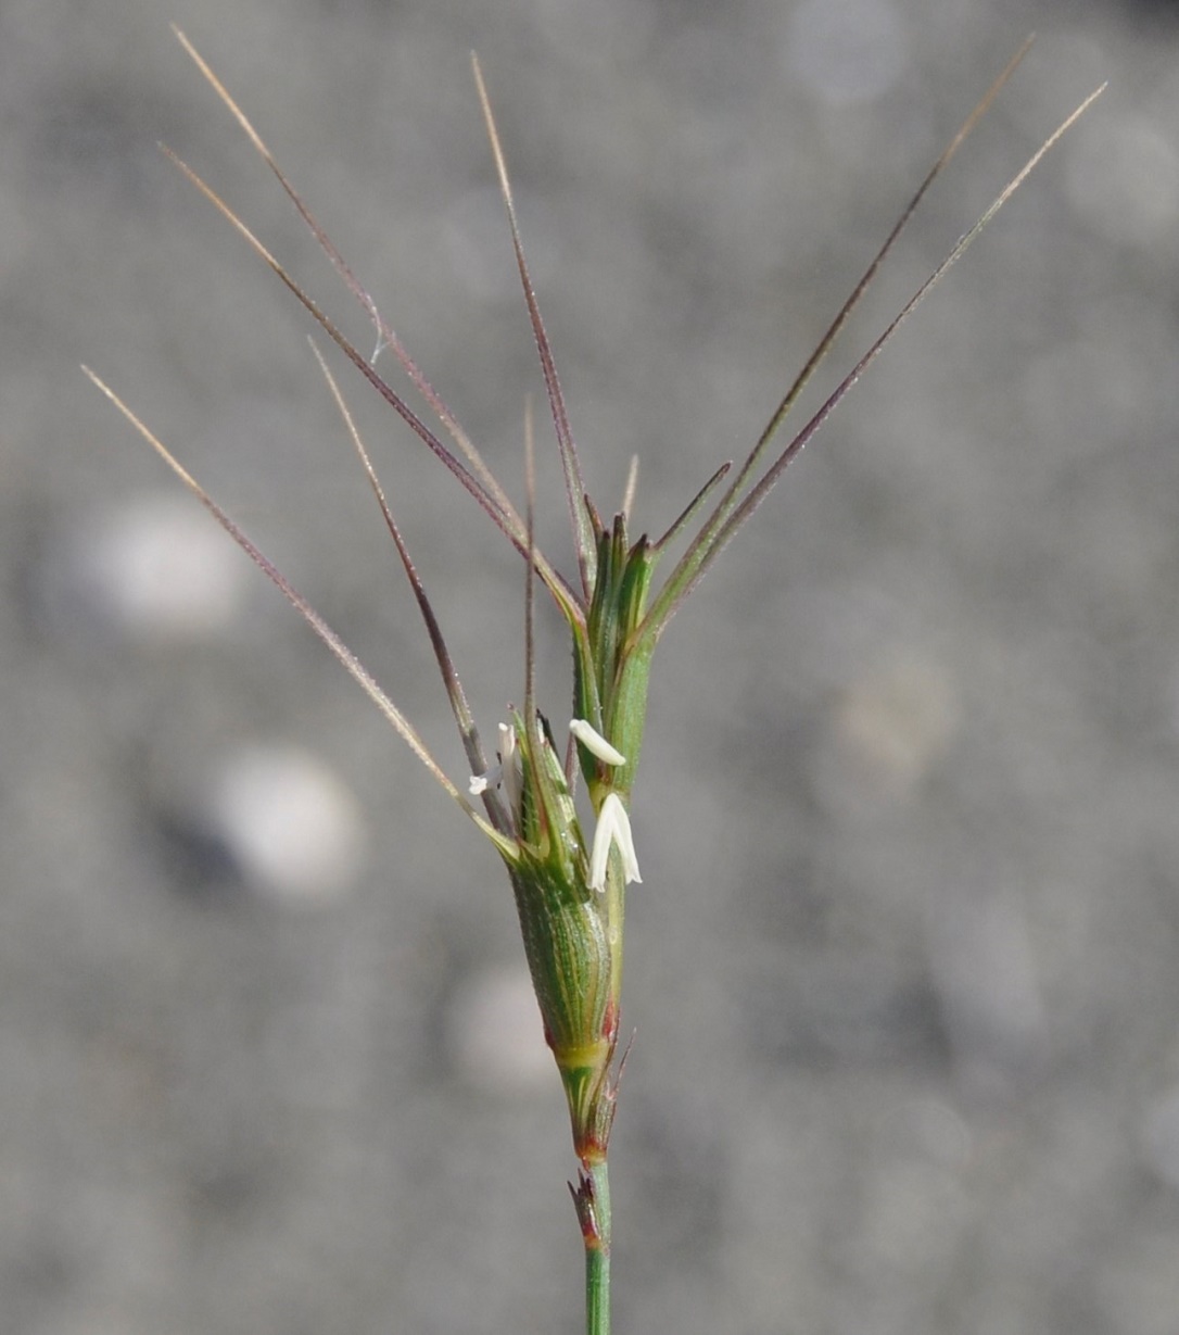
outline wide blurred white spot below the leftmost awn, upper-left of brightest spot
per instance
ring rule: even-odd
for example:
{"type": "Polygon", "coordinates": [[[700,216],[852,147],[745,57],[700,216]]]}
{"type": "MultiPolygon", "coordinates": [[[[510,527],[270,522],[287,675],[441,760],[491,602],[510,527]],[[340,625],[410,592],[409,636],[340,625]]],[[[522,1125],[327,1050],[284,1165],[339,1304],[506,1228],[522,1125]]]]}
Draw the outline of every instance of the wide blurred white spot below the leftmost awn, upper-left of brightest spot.
{"type": "Polygon", "coordinates": [[[223,630],[249,577],[241,553],[187,497],[148,497],[112,513],[73,561],[88,610],[137,634],[223,630]]]}

